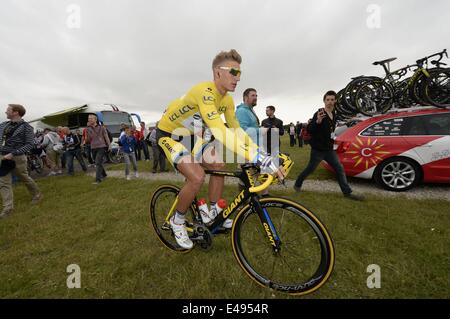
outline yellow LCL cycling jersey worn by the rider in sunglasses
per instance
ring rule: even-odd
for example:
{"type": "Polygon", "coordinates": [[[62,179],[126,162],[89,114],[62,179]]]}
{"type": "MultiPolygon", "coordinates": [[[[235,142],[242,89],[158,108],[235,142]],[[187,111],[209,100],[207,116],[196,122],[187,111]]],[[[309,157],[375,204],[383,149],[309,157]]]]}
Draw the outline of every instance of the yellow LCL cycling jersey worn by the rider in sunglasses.
{"type": "Polygon", "coordinates": [[[211,129],[216,140],[246,160],[255,159],[258,146],[241,129],[233,98],[229,94],[222,96],[214,82],[197,84],[171,102],[158,123],[160,130],[178,136],[193,135],[198,127],[211,129]],[[229,128],[222,121],[222,114],[229,128]]]}

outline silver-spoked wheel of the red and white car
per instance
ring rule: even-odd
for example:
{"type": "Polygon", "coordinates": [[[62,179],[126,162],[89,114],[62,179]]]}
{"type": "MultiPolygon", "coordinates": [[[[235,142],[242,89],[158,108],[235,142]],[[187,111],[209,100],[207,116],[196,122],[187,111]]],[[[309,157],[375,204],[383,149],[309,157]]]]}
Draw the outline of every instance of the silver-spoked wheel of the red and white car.
{"type": "Polygon", "coordinates": [[[375,172],[375,181],[384,189],[403,192],[416,186],[422,171],[416,162],[407,158],[391,158],[381,163],[375,172]]]}

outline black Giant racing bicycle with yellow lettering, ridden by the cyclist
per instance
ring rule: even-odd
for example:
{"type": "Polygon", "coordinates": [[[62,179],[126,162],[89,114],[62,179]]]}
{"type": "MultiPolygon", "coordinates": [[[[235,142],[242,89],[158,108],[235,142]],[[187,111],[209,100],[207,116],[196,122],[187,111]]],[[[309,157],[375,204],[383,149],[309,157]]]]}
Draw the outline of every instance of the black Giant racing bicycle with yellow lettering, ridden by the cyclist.
{"type": "MultiPolygon", "coordinates": [[[[288,173],[293,165],[289,156],[280,154],[280,164],[288,173]]],[[[194,247],[211,248],[213,237],[226,232],[225,219],[233,217],[231,244],[239,266],[263,287],[294,295],[319,289],[330,277],[334,248],[323,223],[303,205],[281,197],[261,198],[257,193],[277,179],[259,174],[254,164],[241,165],[237,172],[205,171],[206,174],[239,178],[244,189],[214,220],[202,222],[197,200],[187,212],[187,229],[194,247]],[[256,186],[254,177],[260,185],[256,186]]],[[[158,238],[169,249],[186,253],[177,245],[169,224],[175,212],[180,189],[162,185],[150,202],[151,222],[158,238]]]]}

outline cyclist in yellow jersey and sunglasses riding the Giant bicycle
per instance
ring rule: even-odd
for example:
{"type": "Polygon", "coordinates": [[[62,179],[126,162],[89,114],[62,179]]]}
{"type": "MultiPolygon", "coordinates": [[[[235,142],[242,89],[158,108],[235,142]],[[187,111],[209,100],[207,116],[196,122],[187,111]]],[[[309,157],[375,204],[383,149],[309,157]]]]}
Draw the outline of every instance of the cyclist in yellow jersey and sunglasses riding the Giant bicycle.
{"type": "MultiPolygon", "coordinates": [[[[230,151],[250,162],[257,162],[261,170],[278,174],[284,178],[284,171],[272,162],[272,158],[258,150],[258,146],[240,128],[235,117],[233,99],[227,92],[234,92],[240,80],[242,58],[236,50],[219,53],[213,61],[213,82],[204,82],[194,86],[180,99],[170,103],[159,121],[156,139],[166,157],[174,167],[186,177],[186,184],[178,195],[178,204],[170,225],[175,239],[181,247],[190,249],[190,240],[186,226],[185,213],[194,200],[205,179],[204,170],[221,170],[225,164],[212,149],[212,155],[205,161],[203,151],[208,146],[206,132],[222,143],[230,151]],[[221,119],[225,116],[227,126],[221,119]],[[200,159],[200,161],[198,161],[200,159]]],[[[224,177],[211,176],[209,181],[209,200],[212,212],[208,216],[213,220],[215,203],[223,192],[224,177]]],[[[231,228],[232,221],[226,220],[225,228],[231,228]]]]}

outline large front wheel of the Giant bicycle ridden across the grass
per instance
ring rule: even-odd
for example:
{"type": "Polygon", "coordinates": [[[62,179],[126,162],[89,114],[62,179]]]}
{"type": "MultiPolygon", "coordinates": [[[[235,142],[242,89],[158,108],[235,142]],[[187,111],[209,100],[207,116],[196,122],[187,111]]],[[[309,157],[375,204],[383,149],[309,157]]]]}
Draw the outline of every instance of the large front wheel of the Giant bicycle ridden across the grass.
{"type": "Polygon", "coordinates": [[[250,205],[239,212],[231,237],[239,265],[264,287],[293,295],[319,289],[334,265],[333,243],[325,226],[293,201],[264,198],[260,203],[273,225],[263,225],[250,205]],[[278,251],[270,243],[267,227],[281,242],[278,251]]]}

